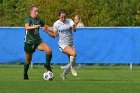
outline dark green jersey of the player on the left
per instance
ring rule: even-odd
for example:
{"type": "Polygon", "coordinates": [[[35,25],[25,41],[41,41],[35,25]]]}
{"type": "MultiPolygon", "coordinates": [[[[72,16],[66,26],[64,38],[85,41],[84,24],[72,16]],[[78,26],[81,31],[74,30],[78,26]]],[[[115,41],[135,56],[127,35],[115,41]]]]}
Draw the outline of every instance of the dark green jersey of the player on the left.
{"type": "MultiPolygon", "coordinates": [[[[35,25],[40,25],[44,26],[44,23],[39,19],[33,19],[31,16],[27,16],[25,19],[25,24],[29,23],[29,26],[35,26],[35,25]]],[[[30,29],[26,30],[25,33],[25,43],[30,43],[30,44],[35,44],[42,41],[39,35],[39,29],[30,29]]]]}

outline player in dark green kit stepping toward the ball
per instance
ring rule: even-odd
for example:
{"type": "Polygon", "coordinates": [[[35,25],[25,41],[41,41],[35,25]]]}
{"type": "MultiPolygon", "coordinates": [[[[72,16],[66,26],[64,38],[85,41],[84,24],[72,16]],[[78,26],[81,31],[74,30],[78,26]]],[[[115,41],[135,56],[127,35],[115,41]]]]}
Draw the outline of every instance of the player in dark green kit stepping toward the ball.
{"type": "Polygon", "coordinates": [[[44,67],[48,71],[52,71],[50,67],[50,61],[52,59],[51,48],[42,41],[39,35],[39,28],[42,28],[44,32],[47,32],[51,37],[55,36],[55,30],[45,25],[37,16],[38,8],[35,5],[31,5],[30,16],[25,19],[25,40],[24,40],[24,51],[26,55],[26,62],[24,64],[24,80],[28,80],[28,69],[32,60],[32,54],[36,49],[46,52],[46,64],[44,67]]]}

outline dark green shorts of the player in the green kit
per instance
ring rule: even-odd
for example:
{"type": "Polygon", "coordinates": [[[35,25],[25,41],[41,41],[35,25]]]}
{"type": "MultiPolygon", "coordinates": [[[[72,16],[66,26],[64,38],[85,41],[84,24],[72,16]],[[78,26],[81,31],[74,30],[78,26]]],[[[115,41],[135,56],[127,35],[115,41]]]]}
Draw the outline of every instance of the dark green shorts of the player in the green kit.
{"type": "Polygon", "coordinates": [[[35,43],[35,44],[30,44],[30,43],[24,43],[24,51],[28,54],[32,54],[35,52],[37,47],[41,44],[42,41],[35,43]]]}

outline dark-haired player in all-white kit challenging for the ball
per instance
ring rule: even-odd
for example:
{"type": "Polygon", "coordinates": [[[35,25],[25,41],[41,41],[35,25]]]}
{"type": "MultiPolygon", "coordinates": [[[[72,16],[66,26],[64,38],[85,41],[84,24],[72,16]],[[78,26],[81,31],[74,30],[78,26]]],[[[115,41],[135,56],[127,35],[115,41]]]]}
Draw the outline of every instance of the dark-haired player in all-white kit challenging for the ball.
{"type": "Polygon", "coordinates": [[[76,31],[76,24],[71,19],[66,19],[67,12],[65,9],[61,9],[59,11],[59,20],[57,20],[53,28],[56,29],[59,36],[59,49],[63,53],[68,55],[69,63],[65,66],[63,73],[61,74],[61,77],[63,80],[66,79],[66,75],[71,70],[73,76],[77,76],[77,72],[73,68],[75,65],[75,59],[76,59],[76,51],[74,48],[74,42],[72,37],[72,31],[76,31]]]}

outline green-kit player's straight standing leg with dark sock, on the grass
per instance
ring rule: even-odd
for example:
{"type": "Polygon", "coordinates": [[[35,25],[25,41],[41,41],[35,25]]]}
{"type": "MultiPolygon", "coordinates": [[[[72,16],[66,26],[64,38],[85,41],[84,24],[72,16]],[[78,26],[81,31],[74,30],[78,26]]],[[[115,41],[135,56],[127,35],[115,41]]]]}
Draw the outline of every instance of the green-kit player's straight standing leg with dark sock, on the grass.
{"type": "Polygon", "coordinates": [[[28,69],[32,60],[32,54],[26,53],[26,62],[24,64],[24,80],[28,80],[28,69]]]}

